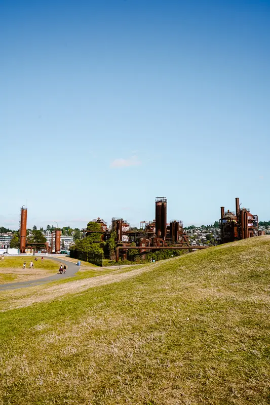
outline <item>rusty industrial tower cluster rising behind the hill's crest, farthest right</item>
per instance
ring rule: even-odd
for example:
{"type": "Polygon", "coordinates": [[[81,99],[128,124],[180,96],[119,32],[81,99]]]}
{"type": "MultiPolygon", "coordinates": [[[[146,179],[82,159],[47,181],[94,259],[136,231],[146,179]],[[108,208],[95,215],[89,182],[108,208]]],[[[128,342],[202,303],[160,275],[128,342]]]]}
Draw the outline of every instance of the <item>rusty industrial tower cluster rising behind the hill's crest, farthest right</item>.
{"type": "Polygon", "coordinates": [[[258,230],[258,216],[252,215],[247,208],[240,208],[238,197],[235,211],[225,212],[225,208],[220,207],[219,227],[220,241],[223,244],[263,234],[258,230]]]}

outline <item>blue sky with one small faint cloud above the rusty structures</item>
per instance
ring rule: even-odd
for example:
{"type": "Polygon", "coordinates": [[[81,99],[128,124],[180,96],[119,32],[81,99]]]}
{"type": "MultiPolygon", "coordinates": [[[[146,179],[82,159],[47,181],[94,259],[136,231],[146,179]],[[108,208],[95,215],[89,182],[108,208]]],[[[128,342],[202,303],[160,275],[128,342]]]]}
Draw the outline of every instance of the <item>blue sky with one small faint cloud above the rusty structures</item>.
{"type": "Polygon", "coordinates": [[[269,1],[0,5],[0,225],[270,219],[269,1]]]}

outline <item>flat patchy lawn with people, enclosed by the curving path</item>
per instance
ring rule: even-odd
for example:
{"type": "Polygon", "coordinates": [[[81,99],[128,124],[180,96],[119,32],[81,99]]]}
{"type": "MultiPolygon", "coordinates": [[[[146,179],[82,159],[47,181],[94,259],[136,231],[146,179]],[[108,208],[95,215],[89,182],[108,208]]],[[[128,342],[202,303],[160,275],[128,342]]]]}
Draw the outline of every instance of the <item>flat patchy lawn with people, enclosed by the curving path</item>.
{"type": "Polygon", "coordinates": [[[59,264],[50,259],[43,259],[42,262],[40,257],[34,261],[33,256],[5,257],[0,260],[0,284],[46,277],[55,273],[58,268],[59,264]],[[33,269],[29,268],[30,260],[34,263],[33,269]],[[24,261],[25,269],[22,268],[24,261]]]}

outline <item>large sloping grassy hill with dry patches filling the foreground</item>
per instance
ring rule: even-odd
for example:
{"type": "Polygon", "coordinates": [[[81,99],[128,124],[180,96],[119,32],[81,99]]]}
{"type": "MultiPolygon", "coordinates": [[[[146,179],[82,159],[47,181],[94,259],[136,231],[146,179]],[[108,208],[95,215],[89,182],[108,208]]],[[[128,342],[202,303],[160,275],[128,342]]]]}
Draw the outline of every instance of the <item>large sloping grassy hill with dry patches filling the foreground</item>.
{"type": "Polygon", "coordinates": [[[1,404],[270,403],[270,237],[123,274],[0,314],[1,404]]]}

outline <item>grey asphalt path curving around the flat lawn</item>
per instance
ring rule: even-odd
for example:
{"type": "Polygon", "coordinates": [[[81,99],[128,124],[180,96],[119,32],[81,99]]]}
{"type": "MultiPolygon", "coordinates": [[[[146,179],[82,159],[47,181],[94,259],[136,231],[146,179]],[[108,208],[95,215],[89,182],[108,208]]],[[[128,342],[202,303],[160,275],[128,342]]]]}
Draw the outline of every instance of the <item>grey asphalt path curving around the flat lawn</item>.
{"type": "Polygon", "coordinates": [[[46,284],[46,282],[49,281],[54,281],[54,280],[61,280],[62,278],[66,277],[73,277],[77,271],[80,270],[80,266],[77,266],[75,263],[69,262],[67,260],[63,260],[62,258],[57,258],[57,257],[51,257],[51,256],[46,256],[46,258],[55,260],[56,262],[59,262],[59,267],[60,264],[66,265],[66,273],[56,273],[54,275],[50,275],[48,277],[44,278],[38,278],[35,280],[29,280],[29,281],[21,281],[21,282],[10,282],[7,284],[0,284],[0,290],[15,290],[18,288],[25,288],[25,287],[35,287],[35,286],[40,286],[42,284],[46,284]]]}

